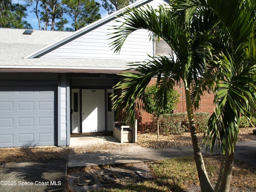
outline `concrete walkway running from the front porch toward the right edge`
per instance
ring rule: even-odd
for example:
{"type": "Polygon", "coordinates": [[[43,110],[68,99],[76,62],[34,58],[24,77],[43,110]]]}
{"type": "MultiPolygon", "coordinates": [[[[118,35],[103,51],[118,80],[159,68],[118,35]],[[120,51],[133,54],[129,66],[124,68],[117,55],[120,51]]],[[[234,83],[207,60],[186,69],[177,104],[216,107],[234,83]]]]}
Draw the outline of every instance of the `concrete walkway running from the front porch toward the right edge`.
{"type": "MultiPolygon", "coordinates": [[[[72,138],[71,138],[72,139],[72,138]]],[[[82,167],[82,166],[104,166],[114,164],[128,164],[140,162],[153,162],[173,157],[193,156],[192,146],[176,147],[176,148],[142,148],[137,144],[123,143],[114,141],[112,136],[105,136],[105,139],[90,138],[90,144],[99,140],[100,142],[107,142],[112,140],[116,147],[111,150],[102,150],[101,152],[90,152],[82,154],[70,154],[68,156],[68,167],[82,167]],[[109,138],[106,138],[109,137],[109,138]],[[110,139],[111,138],[111,139],[110,139]]],[[[76,142],[73,138],[70,143],[70,148],[76,142]]],[[[79,139],[80,145],[88,144],[86,138],[79,139]],[[84,143],[83,143],[84,142],[84,143]]],[[[99,143],[100,144],[100,143],[99,143]]],[[[108,143],[110,144],[110,143],[108,143]]],[[[202,149],[202,154],[209,154],[202,149]]],[[[218,154],[218,152],[214,152],[218,154]]],[[[236,144],[235,159],[256,166],[256,141],[238,142],[236,144]]]]}

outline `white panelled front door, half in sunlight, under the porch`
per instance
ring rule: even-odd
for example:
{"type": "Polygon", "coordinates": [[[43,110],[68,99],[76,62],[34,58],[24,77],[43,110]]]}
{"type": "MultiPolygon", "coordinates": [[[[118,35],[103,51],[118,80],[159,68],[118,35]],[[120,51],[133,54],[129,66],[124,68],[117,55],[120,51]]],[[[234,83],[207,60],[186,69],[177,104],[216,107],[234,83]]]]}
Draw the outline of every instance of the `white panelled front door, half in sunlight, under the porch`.
{"type": "Polygon", "coordinates": [[[105,131],[105,90],[82,89],[82,133],[105,131]]]}

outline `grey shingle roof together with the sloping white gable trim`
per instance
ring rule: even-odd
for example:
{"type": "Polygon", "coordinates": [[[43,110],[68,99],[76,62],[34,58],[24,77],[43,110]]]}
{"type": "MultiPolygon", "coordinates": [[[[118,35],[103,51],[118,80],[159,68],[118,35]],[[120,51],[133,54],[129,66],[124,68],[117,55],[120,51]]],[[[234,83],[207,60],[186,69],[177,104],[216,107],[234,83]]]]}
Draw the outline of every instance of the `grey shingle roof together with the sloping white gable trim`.
{"type": "MultiPolygon", "coordinates": [[[[128,7],[138,7],[152,1],[166,2],[166,0],[139,0],[128,7]]],[[[124,13],[126,8],[76,32],[33,30],[31,35],[23,35],[25,29],[0,28],[1,72],[122,73],[123,70],[130,68],[128,63],[131,62],[131,56],[128,59],[46,58],[41,56],[116,19],[124,13]]]]}

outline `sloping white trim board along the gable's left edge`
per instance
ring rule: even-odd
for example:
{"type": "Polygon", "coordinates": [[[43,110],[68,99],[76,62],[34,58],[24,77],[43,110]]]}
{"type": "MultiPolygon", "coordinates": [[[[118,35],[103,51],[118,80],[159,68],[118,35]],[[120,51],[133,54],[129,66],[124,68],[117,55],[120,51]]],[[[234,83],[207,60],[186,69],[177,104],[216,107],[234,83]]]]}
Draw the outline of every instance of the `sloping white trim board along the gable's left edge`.
{"type": "MultiPolygon", "coordinates": [[[[28,56],[26,56],[25,58],[38,58],[48,52],[50,52],[51,50],[54,50],[60,46],[62,46],[63,44],[66,44],[67,42],[70,42],[92,30],[94,30],[95,28],[98,28],[99,26],[106,24],[107,22],[110,22],[111,20],[116,19],[116,17],[121,16],[122,14],[124,14],[124,11],[127,8],[130,7],[139,7],[139,6],[143,6],[149,2],[151,2],[152,0],[138,0],[137,2],[134,2],[133,4],[130,4],[104,18],[101,18],[100,20],[97,20],[96,22],[93,22],[92,24],[89,24],[88,26],[85,26],[84,28],[81,28],[80,30],[77,30],[76,32],[70,34],[69,36],[66,36],[28,56]]],[[[164,0],[165,2],[168,2],[168,0],[164,0]]]]}

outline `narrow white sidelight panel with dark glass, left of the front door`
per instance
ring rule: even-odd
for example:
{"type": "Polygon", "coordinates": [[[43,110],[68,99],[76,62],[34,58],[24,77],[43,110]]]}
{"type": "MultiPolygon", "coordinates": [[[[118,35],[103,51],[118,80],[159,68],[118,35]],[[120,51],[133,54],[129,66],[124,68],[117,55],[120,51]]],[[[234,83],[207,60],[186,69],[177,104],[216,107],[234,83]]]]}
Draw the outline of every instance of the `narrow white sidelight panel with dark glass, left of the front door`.
{"type": "Polygon", "coordinates": [[[80,90],[72,89],[71,91],[71,118],[72,133],[80,131],[80,90]]]}

